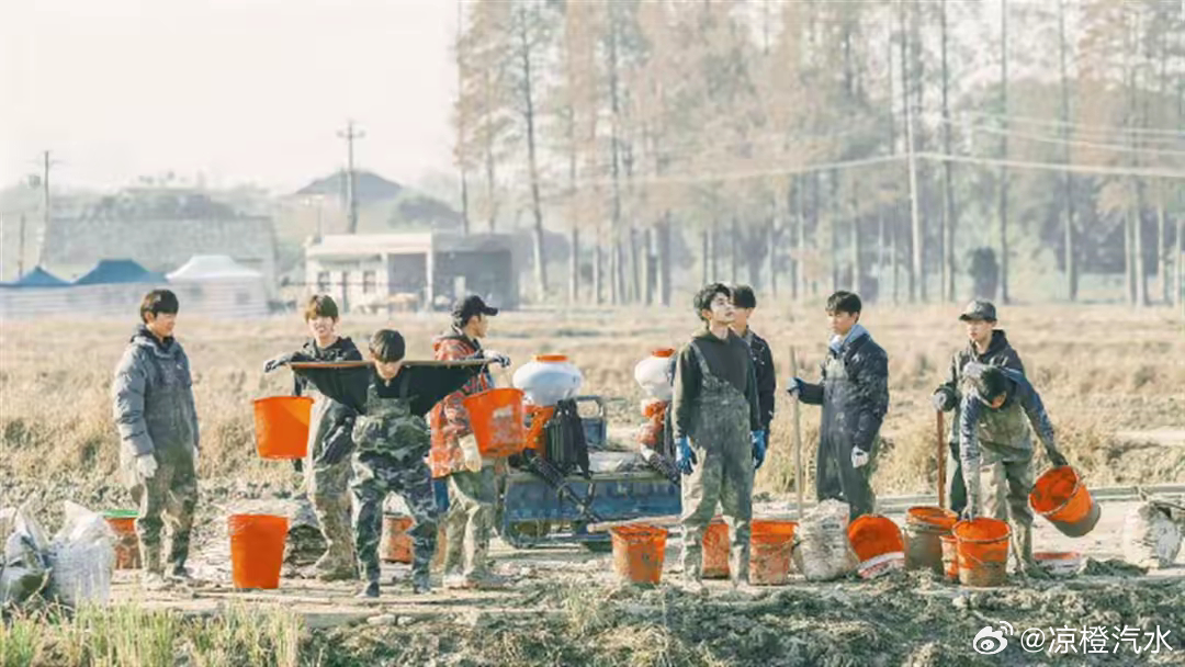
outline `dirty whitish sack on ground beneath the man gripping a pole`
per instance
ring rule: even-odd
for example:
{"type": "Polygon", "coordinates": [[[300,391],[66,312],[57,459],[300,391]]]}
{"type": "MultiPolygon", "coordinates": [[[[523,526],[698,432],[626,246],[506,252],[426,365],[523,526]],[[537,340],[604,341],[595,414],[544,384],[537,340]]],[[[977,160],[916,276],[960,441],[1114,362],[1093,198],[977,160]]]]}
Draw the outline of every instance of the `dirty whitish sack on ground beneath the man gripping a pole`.
{"type": "Polygon", "coordinates": [[[824,500],[799,522],[792,557],[808,581],[838,579],[856,570],[856,553],[847,543],[847,517],[846,502],[824,500]]]}

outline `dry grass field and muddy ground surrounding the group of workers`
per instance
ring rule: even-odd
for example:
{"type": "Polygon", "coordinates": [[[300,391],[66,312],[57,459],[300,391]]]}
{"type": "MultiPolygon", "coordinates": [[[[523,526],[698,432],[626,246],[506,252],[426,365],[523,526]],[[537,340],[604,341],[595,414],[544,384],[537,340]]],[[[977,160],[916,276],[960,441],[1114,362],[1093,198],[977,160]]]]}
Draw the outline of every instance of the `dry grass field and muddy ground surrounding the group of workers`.
{"type": "MultiPolygon", "coordinates": [[[[872,308],[864,323],[890,355],[890,413],[873,485],[882,496],[933,492],[934,412],[928,397],[949,355],[963,345],[955,309],[872,308]]],[[[1050,410],[1059,444],[1094,487],[1185,480],[1185,332],[1167,310],[1012,307],[1001,326],[1018,348],[1050,410]]],[[[437,316],[347,320],[358,341],[379,326],[399,328],[411,355],[427,355],[437,316]]],[[[821,308],[763,308],[754,327],[774,346],[780,383],[796,346],[808,378],[818,377],[826,340],[821,308]]],[[[615,434],[640,422],[633,365],[651,348],[673,346],[694,328],[687,310],[513,313],[500,316],[487,347],[515,366],[532,353],[572,357],[584,391],[608,399],[615,434]]],[[[110,373],[132,329],[127,322],[9,323],[0,329],[0,506],[38,499],[56,527],[62,500],[96,509],[126,507],[115,475],[110,373]]],[[[1185,663],[1185,579],[1181,567],[1152,577],[1080,577],[997,591],[966,591],[928,575],[863,583],[807,584],[757,594],[710,586],[706,598],[660,586],[620,586],[604,556],[553,549],[495,552],[512,590],[429,598],[406,586],[384,591],[374,605],[348,599],[348,586],[286,579],[282,598],[229,590],[224,517],[245,501],[280,501],[299,493],[300,477],[281,462],[254,455],[250,402],[286,393],[287,371],[262,374],[263,361],[301,341],[299,318],[178,328],[196,372],[203,427],[201,506],[194,564],[210,585],[166,598],[143,597],[121,577],[117,597],[153,613],[169,609],[192,622],[278,607],[300,621],[300,650],[252,663],[353,665],[1171,665],[1185,663]],[[220,586],[220,588],[219,588],[220,586]],[[972,640],[986,624],[1008,621],[1018,637],[997,655],[972,640]],[[1021,628],[1089,624],[1170,629],[1176,652],[1062,656],[1026,653],[1021,628]]],[[[781,400],[781,398],[780,398],[781,400]]],[[[805,460],[811,461],[818,415],[803,412],[805,460]]],[[[770,460],[758,474],[764,507],[782,507],[794,490],[788,404],[779,404],[770,460]]],[[[1044,466],[1038,461],[1039,466],[1044,466]]],[[[1116,517],[1088,538],[1058,541],[1048,525],[1038,549],[1074,549],[1103,560],[1117,553],[1116,517]],[[1104,527],[1106,526],[1106,527],[1104,527]]],[[[899,517],[898,517],[899,519],[899,517]]],[[[672,540],[670,550],[674,550],[672,540]]],[[[674,560],[668,553],[668,571],[674,560]]],[[[391,576],[405,576],[401,566],[391,576]]],[[[1013,581],[1013,583],[1020,583],[1013,581]]],[[[190,622],[190,621],[187,621],[190,622]]],[[[1141,646],[1146,637],[1141,637],[1141,646]]],[[[184,642],[181,642],[184,643],[184,642]]],[[[191,642],[192,643],[192,642],[191,642]]],[[[200,642],[194,646],[200,644],[200,642]]],[[[1080,647],[1081,648],[1081,647],[1080,647]]],[[[173,662],[203,663],[178,649],[173,662]]],[[[53,652],[43,658],[52,658],[53,652]]],[[[53,660],[40,663],[63,663],[53,660]]],[[[69,663],[66,661],[65,663],[69,663]]],[[[150,663],[150,662],[149,662],[150,663]]],[[[166,661],[169,663],[169,661],[166,661]]],[[[213,662],[217,663],[217,662],[213,662]]]]}

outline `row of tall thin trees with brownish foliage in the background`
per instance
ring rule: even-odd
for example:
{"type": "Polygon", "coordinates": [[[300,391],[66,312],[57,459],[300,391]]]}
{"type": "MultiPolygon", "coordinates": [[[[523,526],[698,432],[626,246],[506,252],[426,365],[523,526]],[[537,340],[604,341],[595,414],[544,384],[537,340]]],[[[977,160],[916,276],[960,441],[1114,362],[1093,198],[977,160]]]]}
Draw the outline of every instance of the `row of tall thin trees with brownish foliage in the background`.
{"type": "Polygon", "coordinates": [[[665,303],[677,269],[794,296],[1007,301],[1053,274],[1069,300],[1084,274],[1183,296],[1180,2],[459,7],[468,229],[525,220],[539,299],[665,303]]]}

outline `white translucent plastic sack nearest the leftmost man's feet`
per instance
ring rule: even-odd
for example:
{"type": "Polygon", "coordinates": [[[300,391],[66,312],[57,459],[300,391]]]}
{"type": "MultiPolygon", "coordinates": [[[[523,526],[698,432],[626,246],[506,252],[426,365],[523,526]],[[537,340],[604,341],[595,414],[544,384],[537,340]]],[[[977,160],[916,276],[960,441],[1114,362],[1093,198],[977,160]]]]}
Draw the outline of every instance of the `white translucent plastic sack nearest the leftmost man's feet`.
{"type": "Polygon", "coordinates": [[[50,594],[75,607],[105,604],[115,570],[115,533],[102,515],[66,501],[65,522],[50,547],[50,594]]]}

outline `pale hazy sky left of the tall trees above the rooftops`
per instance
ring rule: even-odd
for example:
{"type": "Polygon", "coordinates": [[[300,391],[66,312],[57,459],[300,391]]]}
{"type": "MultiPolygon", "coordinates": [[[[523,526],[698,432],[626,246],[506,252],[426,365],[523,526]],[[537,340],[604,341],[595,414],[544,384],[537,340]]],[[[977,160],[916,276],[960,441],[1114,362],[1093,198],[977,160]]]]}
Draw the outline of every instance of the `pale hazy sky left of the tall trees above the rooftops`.
{"type": "Polygon", "coordinates": [[[198,172],[293,190],[450,168],[454,0],[0,0],[0,186],[198,172]]]}

